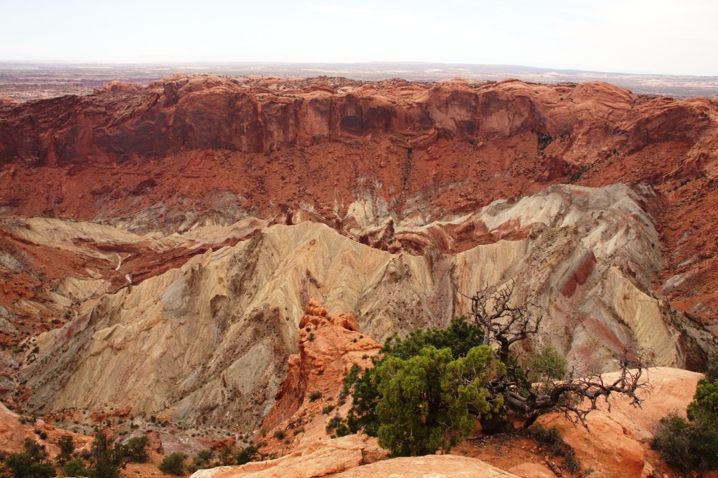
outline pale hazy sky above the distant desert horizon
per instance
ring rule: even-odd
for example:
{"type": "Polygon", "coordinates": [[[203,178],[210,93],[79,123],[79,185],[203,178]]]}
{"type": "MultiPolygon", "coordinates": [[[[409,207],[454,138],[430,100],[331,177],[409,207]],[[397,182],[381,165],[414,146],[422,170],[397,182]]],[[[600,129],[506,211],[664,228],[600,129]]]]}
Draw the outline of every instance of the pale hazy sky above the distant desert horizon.
{"type": "Polygon", "coordinates": [[[0,0],[0,60],[521,64],[718,75],[718,0],[0,0]]]}

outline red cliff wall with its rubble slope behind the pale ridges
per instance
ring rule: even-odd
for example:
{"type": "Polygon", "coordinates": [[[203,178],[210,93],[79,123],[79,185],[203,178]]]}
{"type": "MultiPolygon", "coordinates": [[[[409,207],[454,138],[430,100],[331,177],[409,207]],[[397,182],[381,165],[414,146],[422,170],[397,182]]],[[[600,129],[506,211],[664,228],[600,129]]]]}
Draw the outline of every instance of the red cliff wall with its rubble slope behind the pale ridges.
{"type": "Polygon", "coordinates": [[[287,210],[341,227],[442,218],[551,183],[640,182],[661,194],[666,262],[651,289],[715,327],[717,108],[602,82],[112,84],[0,110],[0,213],[184,231],[287,210]]]}

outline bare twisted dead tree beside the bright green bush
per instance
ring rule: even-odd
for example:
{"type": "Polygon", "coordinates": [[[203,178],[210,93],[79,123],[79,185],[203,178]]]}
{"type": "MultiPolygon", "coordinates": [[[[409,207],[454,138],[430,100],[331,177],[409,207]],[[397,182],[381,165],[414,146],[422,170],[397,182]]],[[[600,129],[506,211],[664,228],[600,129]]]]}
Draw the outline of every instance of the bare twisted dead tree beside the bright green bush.
{"type": "Polygon", "coordinates": [[[513,292],[511,281],[500,289],[485,287],[475,295],[465,296],[471,300],[471,315],[476,324],[484,330],[484,342],[495,345],[498,359],[506,366],[505,375],[489,384],[490,396],[503,396],[504,408],[490,419],[480,417],[485,431],[509,428],[508,411],[526,419],[524,427],[531,426],[542,414],[557,410],[564,411],[574,424],[587,427],[586,416],[597,408],[600,398],[605,399],[610,410],[612,393],[628,396],[632,405],[640,407],[641,399],[636,391],[647,385],[640,381],[645,365],[643,355],[628,347],[617,358],[619,374],[615,381],[607,383],[600,373],[572,371],[568,378],[542,386],[529,383],[528,369],[512,360],[509,349],[513,343],[538,333],[542,316],[536,312],[538,307],[530,302],[512,305],[513,292]]]}

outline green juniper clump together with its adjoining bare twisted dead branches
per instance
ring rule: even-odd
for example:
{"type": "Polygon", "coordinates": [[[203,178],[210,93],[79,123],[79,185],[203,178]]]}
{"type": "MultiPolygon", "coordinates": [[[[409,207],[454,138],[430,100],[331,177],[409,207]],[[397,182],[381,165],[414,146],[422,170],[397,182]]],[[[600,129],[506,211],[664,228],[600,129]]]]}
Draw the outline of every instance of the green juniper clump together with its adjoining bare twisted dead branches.
{"type": "Polygon", "coordinates": [[[386,340],[374,368],[354,367],[345,378],[353,398],[348,430],[378,436],[393,455],[414,456],[449,451],[470,434],[474,419],[485,433],[497,433],[513,431],[510,414],[528,428],[561,410],[585,426],[599,398],[616,393],[640,403],[643,363],[632,350],[617,357],[620,376],[611,383],[599,374],[569,373],[549,347],[522,365],[510,346],[537,333],[541,316],[531,304],[513,305],[512,295],[510,283],[480,290],[470,297],[470,317],[386,340]]]}

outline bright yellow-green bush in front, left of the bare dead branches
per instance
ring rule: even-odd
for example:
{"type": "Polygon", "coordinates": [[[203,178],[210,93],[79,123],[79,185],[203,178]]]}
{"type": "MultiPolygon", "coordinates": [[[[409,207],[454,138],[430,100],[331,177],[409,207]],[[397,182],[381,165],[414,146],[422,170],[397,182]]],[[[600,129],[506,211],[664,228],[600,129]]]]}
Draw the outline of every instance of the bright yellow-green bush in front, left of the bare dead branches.
{"type": "Polygon", "coordinates": [[[491,416],[503,406],[503,397],[491,399],[486,386],[504,374],[488,345],[458,360],[450,348],[433,345],[411,358],[390,356],[376,367],[379,445],[404,457],[449,451],[473,428],[470,408],[491,416]]]}

